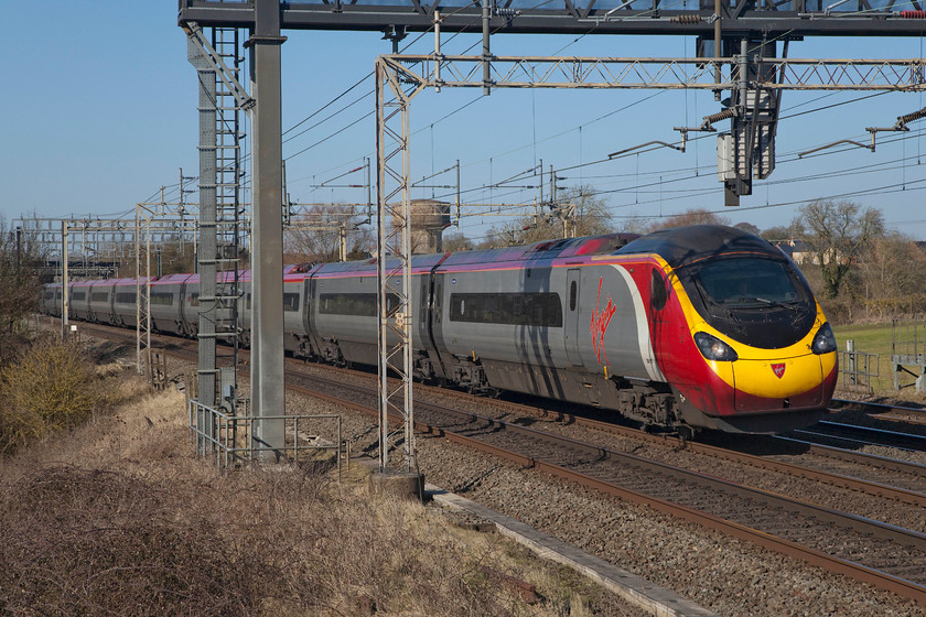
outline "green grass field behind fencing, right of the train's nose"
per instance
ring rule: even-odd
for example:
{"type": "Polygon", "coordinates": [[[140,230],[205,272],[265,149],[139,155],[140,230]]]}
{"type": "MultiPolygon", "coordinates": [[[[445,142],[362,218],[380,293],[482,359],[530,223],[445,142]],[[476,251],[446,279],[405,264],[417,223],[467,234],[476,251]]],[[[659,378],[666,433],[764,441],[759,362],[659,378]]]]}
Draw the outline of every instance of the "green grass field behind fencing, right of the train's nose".
{"type": "MultiPolygon", "coordinates": [[[[906,346],[900,346],[898,353],[915,354],[918,347],[918,351],[922,354],[925,345],[923,323],[919,322],[916,324],[916,327],[914,327],[914,322],[898,322],[897,328],[897,339],[901,342],[906,340],[908,343],[906,346]],[[914,339],[916,340],[916,346],[914,345],[914,339]]],[[[844,355],[841,353],[846,350],[847,340],[854,340],[855,351],[877,354],[879,358],[876,361],[873,358],[870,360],[870,371],[879,374],[877,377],[874,377],[871,380],[871,386],[874,389],[875,396],[903,398],[917,402],[926,400],[926,398],[922,394],[916,394],[912,387],[904,388],[901,392],[894,390],[894,375],[891,365],[891,322],[881,324],[839,325],[833,326],[832,329],[840,350],[840,362],[844,362],[844,355]]],[[[913,366],[908,366],[907,368],[916,370],[913,366]]],[[[903,374],[901,377],[901,383],[912,383],[914,377],[911,375],[903,374]]],[[[841,379],[840,386],[842,386],[841,379]]]]}

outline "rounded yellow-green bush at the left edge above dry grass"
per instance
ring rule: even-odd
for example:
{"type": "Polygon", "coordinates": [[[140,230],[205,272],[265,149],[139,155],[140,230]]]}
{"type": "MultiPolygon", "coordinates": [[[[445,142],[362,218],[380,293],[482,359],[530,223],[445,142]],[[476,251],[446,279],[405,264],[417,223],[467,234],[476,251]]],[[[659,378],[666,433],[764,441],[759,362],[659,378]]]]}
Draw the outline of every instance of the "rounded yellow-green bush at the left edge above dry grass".
{"type": "Polygon", "coordinates": [[[0,453],[86,421],[100,400],[96,368],[78,345],[37,342],[0,370],[0,453]]]}

